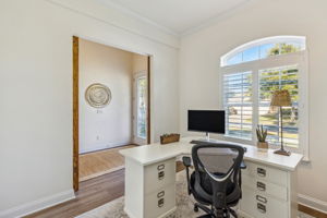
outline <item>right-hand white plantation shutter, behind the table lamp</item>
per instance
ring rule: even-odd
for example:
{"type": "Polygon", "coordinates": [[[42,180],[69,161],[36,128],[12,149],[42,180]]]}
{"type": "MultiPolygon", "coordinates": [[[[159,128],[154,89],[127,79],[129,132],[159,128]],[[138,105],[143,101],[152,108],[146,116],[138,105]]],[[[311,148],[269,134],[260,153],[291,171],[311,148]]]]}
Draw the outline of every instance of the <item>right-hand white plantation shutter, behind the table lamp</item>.
{"type": "Polygon", "coordinates": [[[268,130],[268,142],[280,142],[280,120],[278,108],[270,108],[274,90],[288,89],[292,107],[283,107],[283,143],[290,147],[299,146],[299,70],[296,65],[265,69],[258,71],[259,94],[258,116],[259,124],[268,130]]]}

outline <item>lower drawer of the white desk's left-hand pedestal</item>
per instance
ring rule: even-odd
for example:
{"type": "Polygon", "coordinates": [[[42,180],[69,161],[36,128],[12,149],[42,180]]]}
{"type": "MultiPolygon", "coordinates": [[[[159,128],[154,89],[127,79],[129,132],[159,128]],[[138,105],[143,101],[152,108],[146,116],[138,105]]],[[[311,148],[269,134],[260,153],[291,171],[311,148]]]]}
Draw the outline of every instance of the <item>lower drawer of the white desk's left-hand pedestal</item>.
{"type": "Polygon", "coordinates": [[[165,186],[152,194],[145,195],[145,218],[159,217],[175,207],[175,186],[174,184],[165,186]]]}

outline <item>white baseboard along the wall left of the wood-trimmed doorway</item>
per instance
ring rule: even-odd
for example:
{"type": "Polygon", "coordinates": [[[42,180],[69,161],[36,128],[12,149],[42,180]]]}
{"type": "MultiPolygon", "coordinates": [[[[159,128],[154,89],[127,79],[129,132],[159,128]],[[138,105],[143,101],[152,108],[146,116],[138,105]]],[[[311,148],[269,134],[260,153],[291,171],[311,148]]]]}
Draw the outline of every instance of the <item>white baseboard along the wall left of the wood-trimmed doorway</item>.
{"type": "Polygon", "coordinates": [[[28,214],[36,213],[38,210],[55,206],[57,204],[75,198],[73,190],[68,190],[51,196],[47,196],[34,202],[29,202],[7,210],[0,211],[0,218],[16,218],[23,217],[28,214]]]}

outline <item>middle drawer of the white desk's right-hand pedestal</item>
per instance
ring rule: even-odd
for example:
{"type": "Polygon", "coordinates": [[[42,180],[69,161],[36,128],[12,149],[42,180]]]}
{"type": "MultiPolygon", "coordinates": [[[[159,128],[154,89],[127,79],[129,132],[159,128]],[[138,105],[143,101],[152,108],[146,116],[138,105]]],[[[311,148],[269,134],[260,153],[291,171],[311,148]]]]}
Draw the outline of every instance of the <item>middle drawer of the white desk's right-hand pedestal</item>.
{"type": "Polygon", "coordinates": [[[274,184],[265,180],[258,180],[249,174],[242,175],[242,186],[250,187],[261,194],[268,194],[276,198],[288,201],[288,189],[286,186],[274,184]]]}

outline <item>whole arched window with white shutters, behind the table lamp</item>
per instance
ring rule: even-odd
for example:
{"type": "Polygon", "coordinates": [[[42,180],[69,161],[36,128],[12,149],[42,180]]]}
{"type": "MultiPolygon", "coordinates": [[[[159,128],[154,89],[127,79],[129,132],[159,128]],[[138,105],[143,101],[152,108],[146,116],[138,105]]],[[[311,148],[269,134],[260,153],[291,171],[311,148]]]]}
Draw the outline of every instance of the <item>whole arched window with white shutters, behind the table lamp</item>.
{"type": "Polygon", "coordinates": [[[270,99],[274,90],[288,89],[292,107],[283,109],[283,142],[307,154],[305,37],[278,36],[242,45],[221,57],[221,75],[227,137],[255,143],[255,129],[263,124],[270,145],[279,145],[280,121],[270,99]]]}

